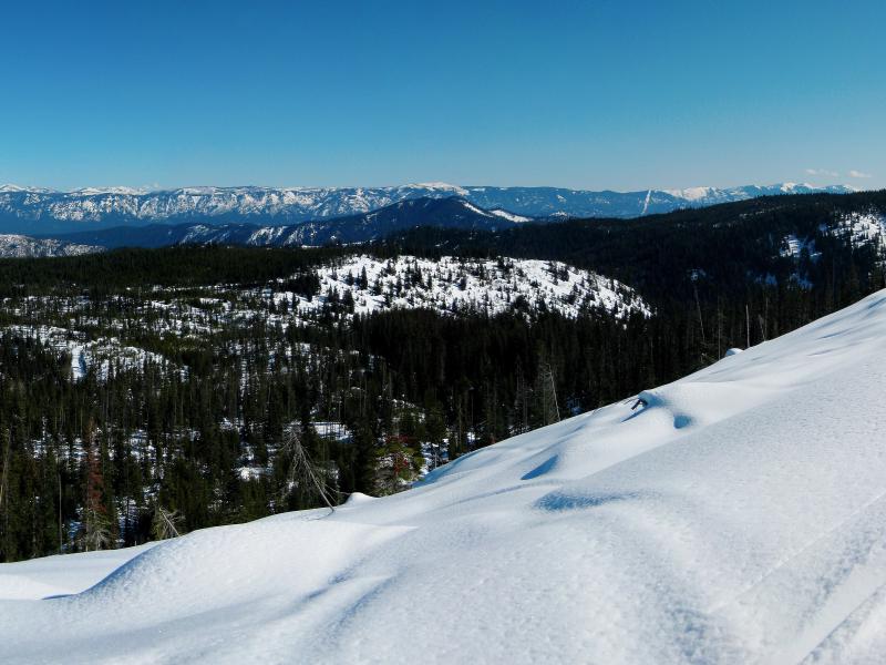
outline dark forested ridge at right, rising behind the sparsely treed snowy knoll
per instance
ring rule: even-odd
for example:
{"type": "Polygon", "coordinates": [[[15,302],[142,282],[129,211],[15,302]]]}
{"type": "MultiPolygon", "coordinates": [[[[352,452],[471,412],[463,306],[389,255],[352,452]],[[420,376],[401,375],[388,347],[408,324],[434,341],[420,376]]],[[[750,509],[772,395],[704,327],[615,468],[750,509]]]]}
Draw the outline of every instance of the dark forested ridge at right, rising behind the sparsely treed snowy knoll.
{"type": "Polygon", "coordinates": [[[785,285],[810,282],[825,295],[828,287],[845,289],[867,277],[849,267],[876,260],[870,255],[884,246],[885,218],[886,191],[806,194],[497,232],[423,227],[392,235],[381,246],[429,256],[553,258],[612,275],[658,299],[692,295],[691,270],[703,270],[704,278],[697,282],[722,295],[745,290],[748,277],[785,285]],[[861,233],[863,218],[869,219],[866,234],[861,233]],[[792,241],[803,241],[807,252],[787,253],[792,241]]]}

